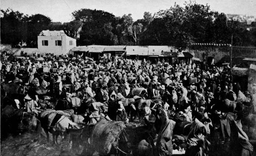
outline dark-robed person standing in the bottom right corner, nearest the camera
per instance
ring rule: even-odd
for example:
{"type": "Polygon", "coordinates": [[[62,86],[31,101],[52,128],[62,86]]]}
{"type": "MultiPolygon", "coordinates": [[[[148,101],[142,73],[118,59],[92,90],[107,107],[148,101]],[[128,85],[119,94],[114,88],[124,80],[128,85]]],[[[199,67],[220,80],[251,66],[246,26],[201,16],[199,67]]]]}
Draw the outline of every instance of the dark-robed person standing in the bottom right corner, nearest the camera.
{"type": "Polygon", "coordinates": [[[242,130],[237,115],[224,112],[221,106],[214,110],[212,123],[215,131],[211,134],[213,147],[209,153],[218,151],[220,155],[252,155],[253,146],[242,130]]]}

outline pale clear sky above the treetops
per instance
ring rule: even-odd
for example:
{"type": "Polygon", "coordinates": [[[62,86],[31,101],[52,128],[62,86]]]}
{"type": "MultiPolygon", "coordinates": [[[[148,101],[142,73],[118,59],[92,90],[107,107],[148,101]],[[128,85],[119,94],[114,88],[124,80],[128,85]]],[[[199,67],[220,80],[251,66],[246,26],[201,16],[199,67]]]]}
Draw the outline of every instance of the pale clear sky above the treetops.
{"type": "MultiPolygon", "coordinates": [[[[189,1],[189,0],[187,0],[189,1]]],[[[210,6],[213,11],[225,14],[256,16],[256,0],[196,0],[198,4],[210,6]]],[[[24,14],[43,14],[57,22],[69,22],[71,13],[82,8],[104,10],[115,16],[132,14],[134,21],[143,18],[145,11],[152,15],[169,9],[175,3],[183,5],[185,0],[0,0],[1,9],[11,8],[24,14]]]]}

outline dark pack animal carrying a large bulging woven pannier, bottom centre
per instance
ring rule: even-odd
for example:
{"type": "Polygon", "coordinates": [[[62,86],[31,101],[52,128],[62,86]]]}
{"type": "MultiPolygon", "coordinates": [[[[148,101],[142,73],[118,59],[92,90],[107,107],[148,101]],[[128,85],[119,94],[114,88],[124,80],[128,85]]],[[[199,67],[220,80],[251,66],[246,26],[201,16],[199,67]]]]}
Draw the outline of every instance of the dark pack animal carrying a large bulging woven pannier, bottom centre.
{"type": "Polygon", "coordinates": [[[89,149],[87,151],[97,151],[100,155],[109,155],[113,153],[123,153],[140,155],[138,146],[145,146],[148,149],[148,155],[152,155],[152,142],[155,134],[152,132],[153,123],[149,126],[136,124],[129,125],[122,121],[109,121],[101,117],[91,130],[88,139],[89,149]]]}

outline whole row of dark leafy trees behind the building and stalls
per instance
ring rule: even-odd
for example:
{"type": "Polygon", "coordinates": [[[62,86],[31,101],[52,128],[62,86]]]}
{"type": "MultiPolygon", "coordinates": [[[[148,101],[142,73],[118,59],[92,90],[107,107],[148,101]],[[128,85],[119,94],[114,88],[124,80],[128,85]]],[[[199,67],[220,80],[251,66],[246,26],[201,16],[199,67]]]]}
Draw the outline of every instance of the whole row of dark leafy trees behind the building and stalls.
{"type": "Polygon", "coordinates": [[[77,45],[170,45],[185,49],[191,43],[231,43],[256,46],[256,29],[248,31],[238,21],[228,21],[224,13],[194,2],[174,5],[157,13],[145,12],[142,19],[131,14],[115,17],[102,10],[80,9],[73,20],[52,22],[42,14],[24,15],[12,9],[1,10],[1,42],[13,46],[37,46],[42,30],[64,30],[77,45]]]}

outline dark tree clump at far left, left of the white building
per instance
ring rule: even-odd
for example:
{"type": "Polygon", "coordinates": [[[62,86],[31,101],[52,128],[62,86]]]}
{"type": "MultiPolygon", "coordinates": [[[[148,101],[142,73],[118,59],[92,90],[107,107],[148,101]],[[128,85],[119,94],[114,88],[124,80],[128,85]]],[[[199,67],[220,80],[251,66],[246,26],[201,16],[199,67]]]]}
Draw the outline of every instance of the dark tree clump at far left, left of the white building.
{"type": "Polygon", "coordinates": [[[1,42],[12,46],[37,47],[37,36],[49,28],[51,19],[41,14],[24,15],[12,9],[1,10],[1,42]]]}

